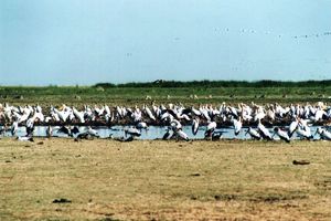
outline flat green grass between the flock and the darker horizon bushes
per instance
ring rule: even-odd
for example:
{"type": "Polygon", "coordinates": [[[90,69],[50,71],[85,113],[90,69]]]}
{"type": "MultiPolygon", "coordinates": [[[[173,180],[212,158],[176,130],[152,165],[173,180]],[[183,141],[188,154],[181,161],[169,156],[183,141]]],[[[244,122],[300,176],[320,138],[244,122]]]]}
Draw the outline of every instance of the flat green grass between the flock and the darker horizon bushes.
{"type": "Polygon", "coordinates": [[[146,96],[157,103],[182,103],[184,105],[237,104],[241,102],[265,103],[306,103],[331,101],[331,85],[327,86],[268,86],[268,87],[95,87],[95,86],[47,86],[47,87],[0,87],[0,102],[13,105],[44,104],[68,105],[110,104],[141,105],[149,104],[146,96]],[[170,97],[168,97],[168,95],[170,97]],[[196,95],[197,99],[193,99],[196,95]],[[212,96],[210,96],[212,95],[212,96]]]}

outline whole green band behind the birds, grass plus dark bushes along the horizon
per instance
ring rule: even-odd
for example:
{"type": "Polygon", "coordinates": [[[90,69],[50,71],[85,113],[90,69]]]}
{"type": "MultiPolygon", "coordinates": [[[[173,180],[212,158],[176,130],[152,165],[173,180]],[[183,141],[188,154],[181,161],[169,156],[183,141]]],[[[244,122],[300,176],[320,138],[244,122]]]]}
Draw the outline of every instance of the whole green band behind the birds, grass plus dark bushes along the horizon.
{"type": "Polygon", "coordinates": [[[329,102],[331,81],[235,82],[201,81],[110,84],[94,86],[0,86],[0,103],[68,105],[136,105],[179,103],[185,105],[227,103],[306,103],[329,102]],[[151,99],[149,99],[151,98],[151,99]]]}

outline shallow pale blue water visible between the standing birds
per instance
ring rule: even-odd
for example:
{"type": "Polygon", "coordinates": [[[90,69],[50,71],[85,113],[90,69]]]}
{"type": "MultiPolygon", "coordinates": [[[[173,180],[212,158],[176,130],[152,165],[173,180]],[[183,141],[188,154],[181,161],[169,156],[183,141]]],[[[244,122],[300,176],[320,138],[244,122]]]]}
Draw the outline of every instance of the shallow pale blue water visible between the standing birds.
{"type": "MultiPolygon", "coordinates": [[[[33,131],[33,136],[38,136],[38,137],[45,137],[46,136],[46,126],[35,126],[34,131],[33,131]]],[[[67,135],[62,134],[62,133],[57,133],[56,130],[58,129],[58,126],[54,126],[53,127],[53,136],[54,137],[67,137],[67,135]]],[[[94,129],[96,129],[100,136],[100,138],[107,138],[109,137],[109,135],[111,134],[114,137],[122,137],[125,136],[125,128],[128,128],[127,126],[113,126],[111,128],[109,127],[95,127],[94,129]]],[[[138,137],[138,139],[147,139],[147,140],[151,140],[151,139],[161,139],[163,137],[163,135],[166,134],[168,127],[164,126],[150,126],[147,130],[142,129],[141,130],[141,136],[138,137]]],[[[318,127],[310,127],[311,134],[314,135],[316,130],[318,127]]],[[[192,128],[191,126],[183,126],[183,131],[188,134],[189,138],[192,139],[203,139],[204,138],[204,133],[205,133],[206,126],[201,126],[199,127],[197,134],[194,136],[192,134],[192,128]]],[[[223,133],[223,138],[225,139],[250,139],[249,134],[246,135],[248,128],[242,128],[241,133],[238,136],[234,135],[234,129],[233,128],[222,128],[222,129],[216,129],[215,131],[222,131],[223,133]]],[[[274,128],[268,128],[270,134],[274,135],[274,128]]],[[[79,131],[84,133],[87,130],[87,127],[79,127],[79,131]]],[[[25,127],[19,127],[17,136],[25,136],[26,131],[25,131],[25,127]]],[[[4,134],[4,136],[11,136],[10,131],[7,131],[4,134]]],[[[316,135],[316,137],[319,138],[318,135],[316,135]]],[[[278,136],[275,135],[275,139],[277,139],[278,136]]],[[[292,139],[297,139],[299,138],[296,133],[292,136],[292,139]]]]}

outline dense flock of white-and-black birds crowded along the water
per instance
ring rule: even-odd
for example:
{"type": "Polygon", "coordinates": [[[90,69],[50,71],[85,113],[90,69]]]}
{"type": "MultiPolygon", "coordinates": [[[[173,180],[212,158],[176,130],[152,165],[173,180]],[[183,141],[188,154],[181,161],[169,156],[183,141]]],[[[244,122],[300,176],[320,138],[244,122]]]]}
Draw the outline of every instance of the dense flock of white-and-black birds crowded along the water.
{"type": "MultiPolygon", "coordinates": [[[[13,106],[0,104],[0,135],[6,131],[17,136],[19,126],[25,127],[26,135],[20,140],[32,140],[34,126],[47,126],[47,137],[53,136],[53,129],[71,137],[86,138],[98,136],[96,125],[130,125],[125,129],[120,140],[128,141],[141,135],[149,125],[167,126],[163,139],[189,140],[183,131],[183,125],[192,126],[192,135],[196,135],[201,125],[206,126],[205,139],[222,138],[222,127],[234,129],[234,135],[249,134],[252,139],[273,140],[277,135],[281,140],[289,143],[297,134],[305,139],[313,139],[310,126],[320,125],[316,134],[321,139],[331,140],[328,125],[331,123],[331,106],[324,103],[289,105],[279,104],[238,104],[220,106],[200,105],[185,107],[182,104],[142,105],[142,107],[116,106],[84,106],[78,109],[63,104],[60,107],[51,106],[44,109],[40,105],[13,106]],[[87,126],[84,131],[78,126],[87,126]],[[56,127],[55,127],[56,126],[56,127]],[[243,128],[243,126],[245,128],[243,128]],[[270,131],[269,128],[273,128],[270,131]],[[273,134],[273,135],[271,135],[273,134]]],[[[109,135],[111,137],[111,135],[109,135]]]]}

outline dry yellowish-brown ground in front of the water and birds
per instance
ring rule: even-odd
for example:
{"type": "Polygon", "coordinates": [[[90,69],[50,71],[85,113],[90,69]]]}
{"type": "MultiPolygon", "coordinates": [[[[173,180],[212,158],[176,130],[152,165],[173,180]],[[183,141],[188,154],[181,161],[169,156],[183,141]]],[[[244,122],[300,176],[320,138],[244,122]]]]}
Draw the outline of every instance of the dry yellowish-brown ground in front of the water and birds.
{"type": "Polygon", "coordinates": [[[0,220],[331,220],[330,152],[325,141],[2,138],[0,220]]]}

